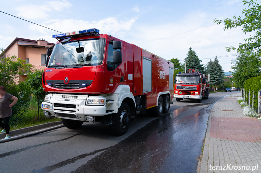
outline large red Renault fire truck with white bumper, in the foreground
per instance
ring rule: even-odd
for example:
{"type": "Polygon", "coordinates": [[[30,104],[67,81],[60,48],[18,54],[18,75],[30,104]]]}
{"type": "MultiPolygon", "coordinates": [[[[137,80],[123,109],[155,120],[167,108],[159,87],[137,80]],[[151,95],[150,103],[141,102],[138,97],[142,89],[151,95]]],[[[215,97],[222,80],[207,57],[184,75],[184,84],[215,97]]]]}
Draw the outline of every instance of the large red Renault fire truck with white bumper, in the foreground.
{"type": "Polygon", "coordinates": [[[137,111],[168,112],[173,97],[168,60],[95,28],[53,38],[58,42],[47,50],[42,75],[45,116],[61,118],[67,128],[101,122],[122,135],[137,111]]]}

